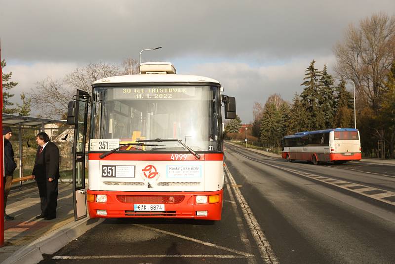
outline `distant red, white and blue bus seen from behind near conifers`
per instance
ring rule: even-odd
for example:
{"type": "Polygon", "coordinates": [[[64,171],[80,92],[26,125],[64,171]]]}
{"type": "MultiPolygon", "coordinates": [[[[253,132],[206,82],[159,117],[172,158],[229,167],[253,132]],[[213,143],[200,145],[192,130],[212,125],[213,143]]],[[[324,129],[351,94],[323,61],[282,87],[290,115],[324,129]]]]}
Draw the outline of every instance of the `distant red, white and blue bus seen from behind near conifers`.
{"type": "Polygon", "coordinates": [[[327,129],[299,132],[283,138],[282,158],[321,162],[345,163],[361,159],[359,132],[356,129],[327,129]]]}

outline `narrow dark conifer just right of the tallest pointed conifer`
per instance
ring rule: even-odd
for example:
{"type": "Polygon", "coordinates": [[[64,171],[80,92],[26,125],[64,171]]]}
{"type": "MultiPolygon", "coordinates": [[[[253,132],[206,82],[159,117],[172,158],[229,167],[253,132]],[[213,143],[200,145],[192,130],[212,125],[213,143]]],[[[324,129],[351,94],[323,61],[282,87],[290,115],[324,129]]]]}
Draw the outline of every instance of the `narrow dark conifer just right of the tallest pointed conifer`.
{"type": "Polygon", "coordinates": [[[335,115],[335,97],[333,94],[333,77],[328,74],[326,69],[326,64],[321,73],[321,78],[319,79],[319,105],[322,109],[324,118],[324,128],[329,129],[332,127],[333,118],[335,115]]]}

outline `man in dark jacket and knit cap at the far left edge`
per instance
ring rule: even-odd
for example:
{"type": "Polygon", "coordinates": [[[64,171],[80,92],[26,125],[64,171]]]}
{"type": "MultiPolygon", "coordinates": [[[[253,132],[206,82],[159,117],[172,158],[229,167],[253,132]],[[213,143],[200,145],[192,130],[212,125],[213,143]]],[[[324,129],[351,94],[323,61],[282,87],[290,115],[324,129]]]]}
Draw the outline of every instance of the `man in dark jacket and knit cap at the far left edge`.
{"type": "Polygon", "coordinates": [[[14,220],[13,217],[5,214],[5,205],[7,203],[7,197],[9,194],[9,190],[12,185],[12,178],[14,176],[14,171],[16,168],[16,163],[14,161],[14,150],[12,149],[12,144],[9,141],[11,139],[12,132],[10,127],[3,127],[3,140],[4,140],[4,220],[14,220]]]}

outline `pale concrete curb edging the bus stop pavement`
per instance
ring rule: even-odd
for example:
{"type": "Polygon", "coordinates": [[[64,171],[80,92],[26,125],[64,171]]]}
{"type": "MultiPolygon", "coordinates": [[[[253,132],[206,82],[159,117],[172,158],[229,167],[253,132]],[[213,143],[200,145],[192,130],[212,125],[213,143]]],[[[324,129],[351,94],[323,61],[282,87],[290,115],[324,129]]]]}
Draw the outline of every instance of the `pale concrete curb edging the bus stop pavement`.
{"type": "Polygon", "coordinates": [[[15,251],[2,264],[37,264],[44,259],[42,254],[54,254],[103,220],[86,218],[70,222],[15,251]]]}

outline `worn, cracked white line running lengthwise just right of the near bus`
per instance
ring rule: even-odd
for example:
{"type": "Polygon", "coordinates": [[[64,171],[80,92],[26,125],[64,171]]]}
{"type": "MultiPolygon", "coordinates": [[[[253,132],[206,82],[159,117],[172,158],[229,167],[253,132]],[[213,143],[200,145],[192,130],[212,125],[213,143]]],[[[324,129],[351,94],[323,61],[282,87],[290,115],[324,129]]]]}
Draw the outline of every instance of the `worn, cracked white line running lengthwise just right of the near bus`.
{"type": "Polygon", "coordinates": [[[254,214],[252,213],[250,207],[244,199],[244,196],[241,194],[239,188],[236,186],[236,181],[232,176],[231,172],[228,170],[228,167],[225,166],[225,171],[227,176],[229,177],[229,181],[231,184],[233,191],[235,192],[236,199],[241,207],[241,211],[243,212],[244,218],[250,228],[252,237],[255,240],[255,243],[258,247],[259,253],[261,254],[261,258],[265,263],[269,264],[278,264],[278,260],[276,254],[274,253],[272,246],[267,240],[264,232],[259,226],[258,221],[255,219],[254,214]]]}

